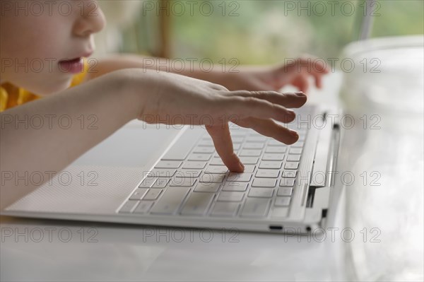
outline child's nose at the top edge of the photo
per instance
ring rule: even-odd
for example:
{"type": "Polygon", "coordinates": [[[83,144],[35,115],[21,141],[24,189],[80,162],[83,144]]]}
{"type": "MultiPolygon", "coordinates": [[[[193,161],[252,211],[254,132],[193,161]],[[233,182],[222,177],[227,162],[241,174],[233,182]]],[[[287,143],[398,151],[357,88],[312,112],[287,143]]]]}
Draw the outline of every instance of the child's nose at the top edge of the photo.
{"type": "Polygon", "coordinates": [[[105,14],[97,1],[81,2],[83,6],[78,7],[78,19],[73,25],[73,33],[81,37],[88,37],[105,27],[105,14]]]}

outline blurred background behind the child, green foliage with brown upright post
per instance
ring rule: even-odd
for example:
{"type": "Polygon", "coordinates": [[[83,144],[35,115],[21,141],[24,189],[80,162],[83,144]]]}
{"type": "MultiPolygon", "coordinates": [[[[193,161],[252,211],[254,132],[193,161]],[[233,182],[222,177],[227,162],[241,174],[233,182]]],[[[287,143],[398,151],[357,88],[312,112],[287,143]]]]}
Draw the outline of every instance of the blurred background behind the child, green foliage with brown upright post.
{"type": "Polygon", "coordinates": [[[424,32],[424,1],[125,0],[100,1],[107,28],[98,56],[129,52],[166,58],[208,58],[219,64],[275,64],[309,53],[335,58],[358,39],[360,21],[371,37],[424,32]]]}

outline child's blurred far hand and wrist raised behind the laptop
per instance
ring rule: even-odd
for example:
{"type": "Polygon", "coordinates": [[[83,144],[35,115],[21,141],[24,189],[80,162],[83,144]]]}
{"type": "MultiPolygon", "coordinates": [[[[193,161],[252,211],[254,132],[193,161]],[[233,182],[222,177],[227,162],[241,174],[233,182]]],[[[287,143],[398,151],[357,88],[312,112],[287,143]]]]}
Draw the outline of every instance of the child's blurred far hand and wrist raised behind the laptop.
{"type": "Polygon", "coordinates": [[[322,61],[314,57],[293,59],[290,63],[279,66],[251,67],[235,74],[223,74],[223,86],[230,90],[279,90],[288,84],[307,93],[309,76],[312,76],[317,88],[322,87],[322,76],[329,69],[322,61]]]}

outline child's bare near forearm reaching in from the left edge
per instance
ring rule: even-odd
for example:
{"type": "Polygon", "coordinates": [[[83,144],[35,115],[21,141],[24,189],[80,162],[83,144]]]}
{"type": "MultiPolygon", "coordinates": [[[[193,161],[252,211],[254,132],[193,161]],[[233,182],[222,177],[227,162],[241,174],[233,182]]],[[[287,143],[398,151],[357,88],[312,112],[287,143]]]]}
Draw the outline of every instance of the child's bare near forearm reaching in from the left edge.
{"type": "Polygon", "coordinates": [[[17,176],[63,170],[140,114],[141,97],[149,84],[136,93],[136,86],[131,86],[135,79],[127,75],[128,71],[1,113],[1,208],[37,187],[18,181],[17,176]]]}

